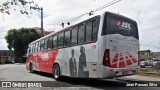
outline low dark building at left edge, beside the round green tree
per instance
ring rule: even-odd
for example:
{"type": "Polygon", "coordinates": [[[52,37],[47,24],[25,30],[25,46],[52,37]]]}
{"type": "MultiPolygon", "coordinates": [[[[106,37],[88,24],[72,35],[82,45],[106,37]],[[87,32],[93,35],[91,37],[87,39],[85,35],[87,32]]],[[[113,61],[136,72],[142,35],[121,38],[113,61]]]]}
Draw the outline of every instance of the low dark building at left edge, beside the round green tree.
{"type": "Polygon", "coordinates": [[[13,51],[0,50],[0,64],[4,64],[13,57],[13,51]]]}

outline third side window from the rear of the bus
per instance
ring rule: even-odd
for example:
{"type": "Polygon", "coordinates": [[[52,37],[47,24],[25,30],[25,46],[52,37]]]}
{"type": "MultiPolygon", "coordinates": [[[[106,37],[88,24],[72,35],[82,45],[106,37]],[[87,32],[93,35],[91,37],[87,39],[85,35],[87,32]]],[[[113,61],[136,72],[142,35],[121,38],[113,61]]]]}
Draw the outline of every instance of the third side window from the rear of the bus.
{"type": "Polygon", "coordinates": [[[84,28],[84,24],[83,24],[83,25],[79,26],[79,29],[78,29],[78,44],[83,44],[84,32],[85,32],[85,28],[84,28]]]}

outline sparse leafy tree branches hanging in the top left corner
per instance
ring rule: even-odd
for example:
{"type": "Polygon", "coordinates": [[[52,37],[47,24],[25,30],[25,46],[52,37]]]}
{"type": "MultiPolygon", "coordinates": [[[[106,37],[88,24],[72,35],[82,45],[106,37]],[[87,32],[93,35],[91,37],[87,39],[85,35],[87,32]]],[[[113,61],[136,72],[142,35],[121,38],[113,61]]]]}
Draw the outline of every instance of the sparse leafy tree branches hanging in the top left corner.
{"type": "Polygon", "coordinates": [[[10,14],[11,8],[17,10],[17,6],[19,7],[18,10],[21,14],[27,15],[32,8],[38,8],[38,4],[35,4],[33,0],[2,0],[0,3],[0,13],[7,13],[8,15],[10,14]]]}

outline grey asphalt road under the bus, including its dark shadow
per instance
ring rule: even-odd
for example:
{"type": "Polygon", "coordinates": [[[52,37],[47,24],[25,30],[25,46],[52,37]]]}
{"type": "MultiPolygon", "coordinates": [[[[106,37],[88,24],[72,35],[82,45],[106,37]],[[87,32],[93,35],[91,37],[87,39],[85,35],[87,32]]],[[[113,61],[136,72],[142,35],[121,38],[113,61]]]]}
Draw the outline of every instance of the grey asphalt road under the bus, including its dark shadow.
{"type": "MultiPolygon", "coordinates": [[[[0,81],[22,81],[22,82],[41,82],[47,87],[43,88],[2,88],[16,90],[160,90],[160,87],[127,87],[127,84],[144,84],[144,81],[123,80],[123,79],[75,79],[64,77],[63,81],[55,81],[51,74],[29,73],[25,64],[3,64],[0,65],[0,81]]],[[[0,83],[1,84],[1,83],[0,83]]]]}

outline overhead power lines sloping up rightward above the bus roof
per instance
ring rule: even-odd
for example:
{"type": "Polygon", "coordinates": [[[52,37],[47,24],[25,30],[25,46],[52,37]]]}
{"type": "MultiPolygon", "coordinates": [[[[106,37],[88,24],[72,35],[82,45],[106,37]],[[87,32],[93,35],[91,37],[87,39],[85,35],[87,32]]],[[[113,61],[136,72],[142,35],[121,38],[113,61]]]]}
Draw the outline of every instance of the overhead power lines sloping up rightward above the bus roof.
{"type": "Polygon", "coordinates": [[[90,12],[87,12],[87,13],[84,13],[82,15],[76,16],[74,18],[70,18],[70,19],[67,19],[67,20],[63,20],[61,22],[57,22],[57,23],[54,23],[54,24],[46,24],[46,25],[58,25],[58,24],[62,24],[62,23],[73,22],[73,21],[75,21],[75,20],[77,20],[77,19],[79,19],[79,18],[81,18],[81,17],[83,17],[83,16],[85,16],[87,14],[91,14],[93,12],[97,12],[99,10],[102,10],[102,9],[106,8],[106,7],[112,6],[113,4],[116,4],[116,3],[120,2],[120,1],[122,1],[122,0],[114,0],[114,1],[111,1],[111,2],[109,2],[109,3],[107,3],[107,4],[103,5],[103,6],[100,6],[99,8],[96,8],[95,10],[92,10],[90,12]]]}

